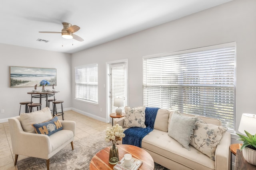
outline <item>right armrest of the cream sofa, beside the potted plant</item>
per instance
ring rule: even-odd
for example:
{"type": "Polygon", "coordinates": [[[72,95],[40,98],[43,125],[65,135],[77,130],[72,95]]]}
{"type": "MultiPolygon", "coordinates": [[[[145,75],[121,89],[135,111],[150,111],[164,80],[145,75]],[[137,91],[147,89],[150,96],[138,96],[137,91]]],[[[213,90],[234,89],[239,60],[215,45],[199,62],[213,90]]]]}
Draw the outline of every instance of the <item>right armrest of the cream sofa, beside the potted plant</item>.
{"type": "Polygon", "coordinates": [[[215,170],[230,170],[230,144],[231,135],[224,132],[215,151],[215,170]]]}

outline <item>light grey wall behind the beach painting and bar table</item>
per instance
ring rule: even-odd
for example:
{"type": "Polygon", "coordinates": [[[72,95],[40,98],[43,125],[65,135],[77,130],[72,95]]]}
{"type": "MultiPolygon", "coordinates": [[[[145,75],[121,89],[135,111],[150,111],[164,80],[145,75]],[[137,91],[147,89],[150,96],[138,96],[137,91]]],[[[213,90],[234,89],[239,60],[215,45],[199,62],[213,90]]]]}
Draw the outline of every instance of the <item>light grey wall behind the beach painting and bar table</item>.
{"type": "MultiPolygon", "coordinates": [[[[56,68],[56,90],[60,91],[55,94],[56,99],[64,100],[64,108],[71,108],[70,54],[0,44],[0,55],[0,109],[4,109],[4,113],[0,113],[0,123],[8,121],[9,117],[18,116],[19,103],[30,101],[31,95],[27,92],[34,89],[34,87],[10,88],[9,66],[56,68]]],[[[42,99],[42,101],[44,100],[45,98],[42,99]]],[[[39,102],[38,99],[33,99],[33,101],[39,102]]],[[[42,106],[45,106],[43,102],[42,106]]],[[[25,111],[24,106],[22,106],[22,111],[25,111]]]]}

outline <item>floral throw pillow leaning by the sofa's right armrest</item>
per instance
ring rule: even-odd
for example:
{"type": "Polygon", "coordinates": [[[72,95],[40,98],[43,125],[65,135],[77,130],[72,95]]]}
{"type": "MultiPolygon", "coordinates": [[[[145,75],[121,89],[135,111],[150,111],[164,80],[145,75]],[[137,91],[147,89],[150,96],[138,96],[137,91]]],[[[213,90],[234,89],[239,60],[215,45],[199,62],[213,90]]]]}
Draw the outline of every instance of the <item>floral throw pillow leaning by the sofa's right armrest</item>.
{"type": "Polygon", "coordinates": [[[228,128],[207,124],[202,119],[196,121],[195,125],[190,145],[215,160],[215,150],[220,143],[222,133],[228,128]]]}

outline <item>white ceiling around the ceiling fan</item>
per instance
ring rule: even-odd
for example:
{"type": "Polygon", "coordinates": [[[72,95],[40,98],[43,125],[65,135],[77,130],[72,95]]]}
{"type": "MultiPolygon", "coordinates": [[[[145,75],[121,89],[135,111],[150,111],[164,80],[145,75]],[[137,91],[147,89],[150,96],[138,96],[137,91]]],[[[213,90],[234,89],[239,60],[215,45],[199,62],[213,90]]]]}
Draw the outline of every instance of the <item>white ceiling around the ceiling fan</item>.
{"type": "Polygon", "coordinates": [[[229,1],[2,0],[0,43],[75,53],[229,1]],[[84,41],[64,39],[61,34],[38,33],[61,32],[62,22],[81,27],[75,34],[84,41]]]}

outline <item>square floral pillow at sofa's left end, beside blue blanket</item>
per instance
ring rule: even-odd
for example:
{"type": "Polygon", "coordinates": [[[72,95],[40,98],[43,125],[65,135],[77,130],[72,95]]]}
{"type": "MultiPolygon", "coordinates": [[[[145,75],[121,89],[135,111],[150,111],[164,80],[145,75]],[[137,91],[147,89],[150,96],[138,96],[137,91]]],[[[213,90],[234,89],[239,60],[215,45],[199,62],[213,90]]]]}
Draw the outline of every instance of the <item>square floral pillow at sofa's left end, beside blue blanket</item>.
{"type": "Polygon", "coordinates": [[[145,106],[142,107],[124,107],[125,117],[123,127],[142,127],[145,125],[145,106]]]}

